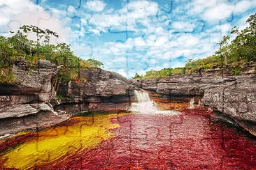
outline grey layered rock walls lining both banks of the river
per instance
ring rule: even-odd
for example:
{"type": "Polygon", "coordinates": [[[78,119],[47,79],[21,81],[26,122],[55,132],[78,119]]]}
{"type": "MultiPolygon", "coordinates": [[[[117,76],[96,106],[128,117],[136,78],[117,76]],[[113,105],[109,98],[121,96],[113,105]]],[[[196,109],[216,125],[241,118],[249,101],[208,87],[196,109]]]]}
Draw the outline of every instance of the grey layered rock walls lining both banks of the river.
{"type": "Polygon", "coordinates": [[[57,66],[39,60],[36,70],[27,61],[13,65],[16,84],[0,84],[0,135],[57,125],[81,111],[128,111],[134,88],[161,95],[159,98],[199,97],[201,103],[233,118],[256,134],[256,75],[220,75],[208,72],[131,81],[118,73],[101,69],[80,70],[83,81],[59,87],[51,79],[57,66]]]}

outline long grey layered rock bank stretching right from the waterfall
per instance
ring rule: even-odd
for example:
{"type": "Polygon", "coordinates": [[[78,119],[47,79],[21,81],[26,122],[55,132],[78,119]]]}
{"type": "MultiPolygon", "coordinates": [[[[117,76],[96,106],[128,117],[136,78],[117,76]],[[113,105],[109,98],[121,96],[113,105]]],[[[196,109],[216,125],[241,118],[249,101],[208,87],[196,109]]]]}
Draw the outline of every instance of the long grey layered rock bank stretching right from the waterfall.
{"type": "Polygon", "coordinates": [[[256,123],[256,75],[186,75],[145,79],[141,88],[165,95],[202,96],[204,105],[236,121],[256,123]]]}

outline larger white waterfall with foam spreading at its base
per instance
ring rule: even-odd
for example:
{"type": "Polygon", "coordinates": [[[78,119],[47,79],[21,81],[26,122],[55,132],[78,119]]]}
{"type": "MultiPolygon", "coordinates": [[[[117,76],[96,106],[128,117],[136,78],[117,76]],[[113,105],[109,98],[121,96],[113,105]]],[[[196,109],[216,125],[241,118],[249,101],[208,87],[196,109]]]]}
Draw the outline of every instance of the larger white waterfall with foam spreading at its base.
{"type": "Polygon", "coordinates": [[[155,106],[155,102],[150,100],[149,94],[143,90],[134,91],[136,95],[137,103],[131,104],[130,111],[138,114],[169,114],[176,115],[180,114],[179,111],[170,111],[170,110],[158,110],[155,106]]]}

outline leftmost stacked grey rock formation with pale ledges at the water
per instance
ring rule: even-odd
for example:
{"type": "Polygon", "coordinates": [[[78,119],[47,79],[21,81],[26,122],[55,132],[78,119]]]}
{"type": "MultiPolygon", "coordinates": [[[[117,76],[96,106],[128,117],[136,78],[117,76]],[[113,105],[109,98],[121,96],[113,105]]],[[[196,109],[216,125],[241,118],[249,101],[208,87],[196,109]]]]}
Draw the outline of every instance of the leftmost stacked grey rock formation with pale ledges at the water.
{"type": "Polygon", "coordinates": [[[56,65],[39,60],[31,70],[21,59],[13,64],[13,73],[15,84],[0,84],[0,135],[48,127],[68,118],[58,115],[49,103],[56,95],[51,84],[56,65]]]}

